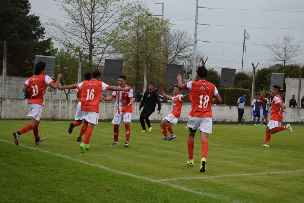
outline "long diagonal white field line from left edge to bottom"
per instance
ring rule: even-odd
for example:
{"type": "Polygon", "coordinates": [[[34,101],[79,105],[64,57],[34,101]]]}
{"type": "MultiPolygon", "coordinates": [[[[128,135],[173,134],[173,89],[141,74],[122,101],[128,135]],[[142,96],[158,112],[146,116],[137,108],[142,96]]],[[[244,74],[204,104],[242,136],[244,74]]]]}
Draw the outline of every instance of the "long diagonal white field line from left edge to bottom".
{"type": "MultiPolygon", "coordinates": [[[[15,145],[15,143],[10,142],[10,141],[6,141],[6,140],[2,140],[2,139],[0,139],[0,141],[15,145]]],[[[204,197],[207,196],[207,197],[211,197],[211,198],[214,198],[214,199],[224,200],[224,201],[227,201],[227,202],[230,202],[230,203],[241,203],[239,201],[232,200],[230,197],[223,197],[223,196],[219,196],[219,195],[211,194],[211,193],[202,193],[202,192],[190,189],[190,188],[186,188],[186,187],[183,187],[183,186],[167,183],[165,181],[154,180],[154,179],[150,179],[150,178],[147,178],[147,177],[144,177],[144,176],[134,175],[134,174],[126,173],[126,172],[123,172],[123,171],[117,171],[117,170],[114,170],[114,169],[111,169],[111,168],[108,168],[108,167],[105,167],[105,166],[102,166],[102,165],[99,165],[99,164],[92,164],[92,163],[82,161],[82,160],[79,160],[79,159],[74,159],[70,156],[49,152],[49,151],[46,151],[46,150],[43,150],[43,149],[33,148],[33,147],[29,147],[29,146],[22,145],[22,144],[19,144],[18,147],[29,148],[29,149],[36,150],[36,151],[39,151],[39,152],[44,152],[44,153],[48,153],[48,154],[51,154],[51,155],[54,155],[54,156],[59,156],[59,157],[62,157],[62,158],[68,159],[68,160],[76,161],[76,162],[79,162],[79,163],[82,163],[82,164],[87,164],[87,165],[90,165],[90,166],[93,166],[93,167],[98,167],[98,168],[101,168],[101,169],[104,169],[104,170],[107,170],[107,171],[111,171],[113,173],[127,175],[127,176],[131,176],[131,177],[134,177],[134,178],[143,179],[143,180],[147,180],[147,181],[156,182],[156,183],[159,183],[159,184],[171,186],[171,187],[174,187],[174,188],[178,188],[180,190],[185,190],[185,191],[190,192],[190,193],[199,194],[199,195],[204,196],[204,197]]]]}

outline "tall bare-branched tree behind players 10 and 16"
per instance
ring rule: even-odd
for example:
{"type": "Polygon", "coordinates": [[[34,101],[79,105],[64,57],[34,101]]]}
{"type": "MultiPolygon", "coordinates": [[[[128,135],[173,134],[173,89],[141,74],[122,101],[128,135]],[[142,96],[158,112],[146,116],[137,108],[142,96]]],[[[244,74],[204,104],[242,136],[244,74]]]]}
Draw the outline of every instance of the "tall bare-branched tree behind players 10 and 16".
{"type": "Polygon", "coordinates": [[[111,33],[120,26],[120,0],[54,0],[60,3],[69,22],[61,25],[51,21],[50,36],[60,43],[84,48],[88,59],[99,66],[110,53],[111,33]]]}

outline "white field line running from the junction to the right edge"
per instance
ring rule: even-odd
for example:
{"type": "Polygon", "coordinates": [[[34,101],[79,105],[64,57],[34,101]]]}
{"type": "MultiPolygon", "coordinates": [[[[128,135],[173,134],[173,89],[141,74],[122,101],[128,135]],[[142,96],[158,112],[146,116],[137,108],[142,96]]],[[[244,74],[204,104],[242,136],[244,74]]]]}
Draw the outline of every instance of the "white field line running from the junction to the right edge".
{"type": "Polygon", "coordinates": [[[173,179],[159,179],[156,181],[174,181],[174,180],[184,180],[184,179],[209,179],[209,178],[225,178],[234,176],[248,176],[248,175],[267,175],[267,174],[280,174],[280,173],[300,173],[304,170],[299,171],[277,171],[277,172],[264,172],[264,173],[247,173],[247,174],[231,174],[231,175],[217,175],[217,176],[202,176],[202,177],[186,177],[186,178],[173,178],[173,179]]]}

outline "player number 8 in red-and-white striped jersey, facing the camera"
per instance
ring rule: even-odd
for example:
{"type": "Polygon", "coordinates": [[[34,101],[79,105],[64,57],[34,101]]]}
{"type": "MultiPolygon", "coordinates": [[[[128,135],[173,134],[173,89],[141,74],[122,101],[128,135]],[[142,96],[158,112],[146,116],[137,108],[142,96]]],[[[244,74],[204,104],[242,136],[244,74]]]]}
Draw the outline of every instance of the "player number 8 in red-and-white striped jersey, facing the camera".
{"type": "MultiPolygon", "coordinates": [[[[121,88],[130,88],[130,86],[126,84],[126,76],[124,75],[118,77],[118,85],[121,88]]],[[[114,124],[114,142],[111,146],[118,145],[119,126],[124,122],[126,129],[126,142],[124,146],[129,147],[131,133],[130,124],[132,124],[131,117],[133,110],[133,90],[131,89],[130,92],[115,91],[109,97],[101,97],[101,100],[111,101],[114,98],[117,108],[112,120],[112,124],[114,124]]]]}

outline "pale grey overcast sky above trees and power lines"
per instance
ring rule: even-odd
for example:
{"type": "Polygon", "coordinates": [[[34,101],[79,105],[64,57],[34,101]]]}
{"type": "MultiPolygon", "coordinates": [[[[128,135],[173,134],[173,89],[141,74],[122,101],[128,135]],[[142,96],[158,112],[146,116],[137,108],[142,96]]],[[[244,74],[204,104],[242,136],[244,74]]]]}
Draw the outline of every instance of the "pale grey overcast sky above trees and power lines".
{"type": "MultiPolygon", "coordinates": [[[[31,12],[40,16],[45,23],[53,18],[67,22],[64,12],[60,11],[58,2],[53,0],[29,0],[31,12]],[[42,3],[43,2],[43,3],[42,3]],[[44,15],[44,16],[43,16],[44,15]]],[[[124,0],[124,4],[133,2],[124,0]]],[[[196,0],[143,0],[147,2],[151,13],[162,14],[164,3],[164,18],[175,24],[173,28],[185,30],[194,36],[196,0]],[[156,4],[157,3],[157,4],[156,4]],[[160,4],[159,4],[160,3],[160,4]]],[[[241,67],[244,28],[250,38],[246,40],[243,70],[252,70],[251,63],[258,68],[268,67],[271,55],[262,46],[265,43],[276,42],[282,36],[294,37],[302,41],[304,48],[304,1],[303,0],[199,0],[197,50],[207,52],[208,67],[241,67]],[[200,25],[210,24],[210,26],[200,25]],[[209,41],[201,42],[201,41],[209,41]]],[[[161,16],[160,16],[161,17],[161,16]]]]}

